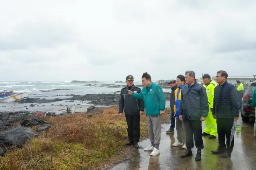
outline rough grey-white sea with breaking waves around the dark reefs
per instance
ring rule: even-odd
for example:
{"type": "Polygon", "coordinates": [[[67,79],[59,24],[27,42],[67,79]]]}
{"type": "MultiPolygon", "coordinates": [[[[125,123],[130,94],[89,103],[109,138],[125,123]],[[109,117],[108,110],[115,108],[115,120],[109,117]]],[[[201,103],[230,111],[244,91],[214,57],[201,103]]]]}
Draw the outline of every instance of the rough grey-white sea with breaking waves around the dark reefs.
{"type": "MultiPolygon", "coordinates": [[[[141,85],[141,82],[134,82],[135,85],[141,85]]],[[[99,81],[92,83],[71,83],[71,81],[64,82],[0,82],[0,93],[4,91],[12,91],[15,93],[27,92],[29,98],[69,98],[72,96],[65,96],[68,94],[85,95],[85,94],[100,94],[100,93],[117,93],[122,87],[109,88],[113,85],[126,85],[126,83],[115,83],[109,81],[99,81]],[[93,86],[91,86],[91,85],[93,86]],[[57,91],[42,92],[47,90],[62,89],[57,91]],[[72,89],[72,90],[66,90],[72,89]],[[56,95],[59,95],[56,97],[56,95]]],[[[163,92],[171,92],[169,88],[163,88],[163,92]]],[[[118,92],[119,93],[119,92],[118,92]]],[[[169,102],[166,102],[167,107],[169,102]]],[[[0,102],[0,112],[8,111],[29,111],[29,112],[57,112],[60,109],[79,105],[79,107],[88,108],[92,104],[88,102],[74,101],[68,102],[68,100],[49,102],[49,103],[25,103],[19,104],[18,102],[0,102]],[[35,105],[31,107],[31,104],[35,105]],[[62,106],[59,106],[59,105],[62,106]]],[[[97,107],[108,107],[108,106],[97,106],[97,107]]]]}

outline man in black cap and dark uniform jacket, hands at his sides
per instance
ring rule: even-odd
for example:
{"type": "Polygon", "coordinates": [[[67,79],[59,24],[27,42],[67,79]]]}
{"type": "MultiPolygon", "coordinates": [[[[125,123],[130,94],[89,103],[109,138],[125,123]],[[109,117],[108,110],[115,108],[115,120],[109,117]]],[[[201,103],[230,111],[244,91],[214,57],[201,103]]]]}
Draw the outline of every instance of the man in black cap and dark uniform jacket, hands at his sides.
{"type": "Polygon", "coordinates": [[[134,78],[129,75],[126,77],[127,86],[121,89],[119,98],[119,115],[125,114],[127,122],[128,142],[126,145],[134,144],[135,148],[139,148],[138,142],[140,140],[140,116],[144,112],[143,100],[137,100],[128,94],[127,90],[134,93],[140,93],[141,88],[134,86],[134,78]]]}

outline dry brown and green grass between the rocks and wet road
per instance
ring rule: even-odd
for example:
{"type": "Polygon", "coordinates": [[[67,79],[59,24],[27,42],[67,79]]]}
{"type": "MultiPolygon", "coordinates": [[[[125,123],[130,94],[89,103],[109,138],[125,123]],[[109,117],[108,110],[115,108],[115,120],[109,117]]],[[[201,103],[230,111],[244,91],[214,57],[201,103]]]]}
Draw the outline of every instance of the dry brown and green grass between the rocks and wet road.
{"type": "MultiPolygon", "coordinates": [[[[103,113],[74,114],[45,118],[53,127],[40,133],[22,148],[8,151],[0,157],[1,170],[76,170],[95,169],[125,151],[127,124],[118,115],[118,107],[103,109],[103,113]]],[[[169,110],[162,122],[169,121],[169,110]]],[[[141,116],[141,139],[146,139],[146,116],[141,116]]],[[[34,130],[36,127],[32,127],[34,130]]]]}

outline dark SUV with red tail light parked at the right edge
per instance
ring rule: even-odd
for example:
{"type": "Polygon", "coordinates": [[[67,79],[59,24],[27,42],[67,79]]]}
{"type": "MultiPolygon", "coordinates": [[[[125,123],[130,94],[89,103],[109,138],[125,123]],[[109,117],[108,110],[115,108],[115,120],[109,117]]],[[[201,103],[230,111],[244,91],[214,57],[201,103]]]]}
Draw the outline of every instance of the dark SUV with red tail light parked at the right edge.
{"type": "Polygon", "coordinates": [[[254,89],[256,88],[256,82],[250,84],[247,91],[245,92],[243,99],[242,99],[242,121],[248,122],[250,118],[255,118],[255,108],[252,107],[251,104],[251,97],[254,89]]]}

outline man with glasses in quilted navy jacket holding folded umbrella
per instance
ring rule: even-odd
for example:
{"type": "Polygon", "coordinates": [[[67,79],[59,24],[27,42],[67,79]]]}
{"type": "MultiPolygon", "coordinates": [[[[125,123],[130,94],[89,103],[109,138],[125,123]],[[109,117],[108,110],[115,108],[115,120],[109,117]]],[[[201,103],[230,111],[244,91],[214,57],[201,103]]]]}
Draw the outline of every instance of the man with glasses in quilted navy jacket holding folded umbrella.
{"type": "Polygon", "coordinates": [[[213,154],[222,154],[221,157],[231,156],[234,147],[234,137],[230,144],[231,128],[234,120],[238,120],[239,104],[236,87],[227,82],[227,72],[217,72],[216,82],[219,84],[214,89],[213,118],[217,119],[219,148],[211,151],[213,154]],[[225,144],[225,138],[227,143],[225,144]]]}

